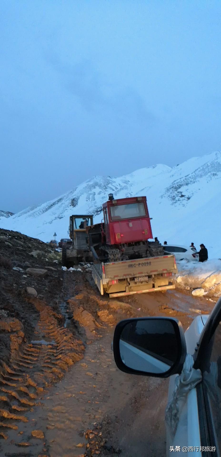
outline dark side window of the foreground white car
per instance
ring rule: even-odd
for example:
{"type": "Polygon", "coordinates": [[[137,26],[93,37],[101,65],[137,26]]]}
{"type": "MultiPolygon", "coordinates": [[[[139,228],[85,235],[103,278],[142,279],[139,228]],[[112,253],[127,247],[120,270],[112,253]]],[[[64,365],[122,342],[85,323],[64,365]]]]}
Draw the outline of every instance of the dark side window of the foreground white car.
{"type": "Polygon", "coordinates": [[[202,386],[207,416],[213,430],[217,455],[221,453],[221,322],[210,340],[203,362],[202,386]]]}

